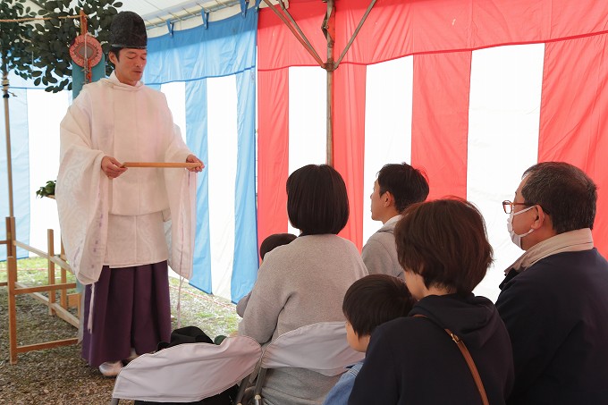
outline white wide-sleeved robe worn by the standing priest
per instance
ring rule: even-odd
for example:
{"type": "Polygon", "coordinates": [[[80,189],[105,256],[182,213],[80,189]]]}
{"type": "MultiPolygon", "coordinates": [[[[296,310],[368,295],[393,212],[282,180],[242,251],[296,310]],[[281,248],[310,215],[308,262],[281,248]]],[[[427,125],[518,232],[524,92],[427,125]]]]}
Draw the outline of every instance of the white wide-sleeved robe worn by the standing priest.
{"type": "Polygon", "coordinates": [[[131,168],[110,180],[101,170],[104,156],[119,162],[185,162],[190,154],[163,93],[140,82],[122,84],[114,73],[80,91],[61,123],[55,190],[63,246],[80,283],[97,282],[104,265],[166,259],[173,271],[190,278],[194,173],[131,168]]]}

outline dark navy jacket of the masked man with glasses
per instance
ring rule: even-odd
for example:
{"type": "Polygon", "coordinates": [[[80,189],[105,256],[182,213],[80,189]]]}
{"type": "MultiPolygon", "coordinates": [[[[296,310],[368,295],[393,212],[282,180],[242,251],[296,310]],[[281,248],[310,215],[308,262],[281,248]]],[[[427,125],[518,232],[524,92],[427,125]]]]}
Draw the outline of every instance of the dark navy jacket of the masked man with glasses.
{"type": "Polygon", "coordinates": [[[608,404],[608,263],[597,249],[545,257],[503,283],[511,404],[608,404]]]}

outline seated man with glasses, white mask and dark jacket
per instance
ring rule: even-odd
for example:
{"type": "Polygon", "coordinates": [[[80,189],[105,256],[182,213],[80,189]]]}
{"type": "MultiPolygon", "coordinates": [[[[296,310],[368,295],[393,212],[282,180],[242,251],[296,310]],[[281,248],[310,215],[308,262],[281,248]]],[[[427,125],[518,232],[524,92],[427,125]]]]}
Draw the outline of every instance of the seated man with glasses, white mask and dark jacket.
{"type": "Polygon", "coordinates": [[[573,165],[530,167],[504,201],[511,240],[496,308],[511,336],[510,404],[608,403],[608,262],[591,234],[597,192],[573,165]]]}

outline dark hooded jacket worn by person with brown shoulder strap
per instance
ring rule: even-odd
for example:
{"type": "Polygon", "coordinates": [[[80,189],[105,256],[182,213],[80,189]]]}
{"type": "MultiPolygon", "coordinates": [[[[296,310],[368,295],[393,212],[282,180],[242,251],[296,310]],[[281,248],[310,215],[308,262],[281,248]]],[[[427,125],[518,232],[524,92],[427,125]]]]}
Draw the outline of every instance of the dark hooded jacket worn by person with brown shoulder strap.
{"type": "Polygon", "coordinates": [[[376,328],[349,404],[480,404],[469,367],[443,328],[467,345],[490,403],[504,403],[513,363],[502,320],[490,300],[452,294],[419,300],[410,316],[376,328]]]}

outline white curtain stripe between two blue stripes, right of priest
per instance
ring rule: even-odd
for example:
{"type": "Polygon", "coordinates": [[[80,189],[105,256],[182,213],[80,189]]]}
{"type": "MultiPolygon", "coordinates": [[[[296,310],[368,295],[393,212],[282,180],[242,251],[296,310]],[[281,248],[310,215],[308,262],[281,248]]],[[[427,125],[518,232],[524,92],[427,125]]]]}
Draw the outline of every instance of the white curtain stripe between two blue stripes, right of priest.
{"type": "Polygon", "coordinates": [[[236,76],[207,79],[209,233],[213,293],[230,297],[237,170],[236,76]]]}

